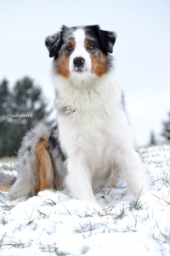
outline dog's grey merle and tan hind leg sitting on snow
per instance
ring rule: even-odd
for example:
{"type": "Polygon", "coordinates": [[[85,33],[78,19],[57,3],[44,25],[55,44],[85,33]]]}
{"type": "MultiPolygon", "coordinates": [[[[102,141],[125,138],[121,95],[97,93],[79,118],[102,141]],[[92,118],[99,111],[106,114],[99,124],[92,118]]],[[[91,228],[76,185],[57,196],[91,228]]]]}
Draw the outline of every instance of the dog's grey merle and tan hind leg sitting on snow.
{"type": "Polygon", "coordinates": [[[48,152],[50,135],[51,129],[42,124],[26,133],[18,153],[16,180],[14,177],[0,177],[2,186],[14,183],[8,192],[10,200],[37,195],[42,189],[54,189],[54,165],[48,152]]]}

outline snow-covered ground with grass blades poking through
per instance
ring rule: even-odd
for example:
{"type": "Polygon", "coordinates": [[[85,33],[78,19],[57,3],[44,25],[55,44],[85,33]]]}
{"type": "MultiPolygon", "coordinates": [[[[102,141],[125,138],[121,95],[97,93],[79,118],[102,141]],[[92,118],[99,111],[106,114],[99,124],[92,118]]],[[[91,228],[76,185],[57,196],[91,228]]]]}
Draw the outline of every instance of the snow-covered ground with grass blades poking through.
{"type": "MultiPolygon", "coordinates": [[[[100,216],[66,191],[45,190],[27,201],[0,192],[0,255],[170,255],[170,146],[141,149],[152,191],[140,201],[123,179],[96,193],[100,216]]],[[[14,163],[0,164],[0,172],[14,163]]]]}

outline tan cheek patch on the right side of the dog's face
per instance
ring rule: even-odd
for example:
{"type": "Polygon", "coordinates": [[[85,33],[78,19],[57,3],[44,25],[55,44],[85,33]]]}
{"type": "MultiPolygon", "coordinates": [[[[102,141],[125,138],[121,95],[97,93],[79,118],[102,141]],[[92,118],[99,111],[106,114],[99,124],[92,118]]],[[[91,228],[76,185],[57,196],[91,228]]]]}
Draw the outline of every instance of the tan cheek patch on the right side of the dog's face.
{"type": "Polygon", "coordinates": [[[92,72],[95,73],[98,77],[101,77],[103,74],[107,73],[107,65],[105,56],[100,52],[98,56],[91,55],[92,61],[92,72]]]}

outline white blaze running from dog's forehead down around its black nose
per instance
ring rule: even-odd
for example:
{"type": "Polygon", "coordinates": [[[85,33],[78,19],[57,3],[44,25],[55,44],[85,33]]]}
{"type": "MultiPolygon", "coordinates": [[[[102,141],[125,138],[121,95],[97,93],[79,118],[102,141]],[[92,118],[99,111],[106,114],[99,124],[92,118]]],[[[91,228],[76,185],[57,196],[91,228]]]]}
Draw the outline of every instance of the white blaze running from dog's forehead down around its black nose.
{"type": "Polygon", "coordinates": [[[83,66],[83,72],[91,72],[92,64],[91,58],[88,54],[87,49],[85,49],[85,32],[83,29],[79,28],[75,32],[73,32],[73,37],[75,38],[75,49],[71,54],[70,61],[69,61],[69,70],[71,73],[77,73],[74,67],[74,59],[77,57],[82,57],[85,62],[83,66]]]}

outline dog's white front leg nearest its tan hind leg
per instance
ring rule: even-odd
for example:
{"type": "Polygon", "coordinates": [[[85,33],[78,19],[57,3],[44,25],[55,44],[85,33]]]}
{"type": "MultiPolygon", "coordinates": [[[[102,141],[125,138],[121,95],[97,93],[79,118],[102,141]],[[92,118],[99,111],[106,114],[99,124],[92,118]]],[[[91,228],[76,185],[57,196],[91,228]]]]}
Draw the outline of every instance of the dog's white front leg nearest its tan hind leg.
{"type": "Polygon", "coordinates": [[[84,161],[78,157],[71,156],[67,160],[65,185],[73,198],[97,205],[92,189],[90,171],[84,161]]]}

